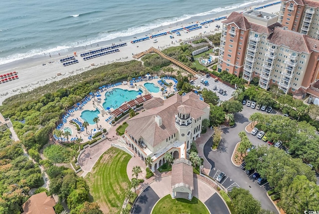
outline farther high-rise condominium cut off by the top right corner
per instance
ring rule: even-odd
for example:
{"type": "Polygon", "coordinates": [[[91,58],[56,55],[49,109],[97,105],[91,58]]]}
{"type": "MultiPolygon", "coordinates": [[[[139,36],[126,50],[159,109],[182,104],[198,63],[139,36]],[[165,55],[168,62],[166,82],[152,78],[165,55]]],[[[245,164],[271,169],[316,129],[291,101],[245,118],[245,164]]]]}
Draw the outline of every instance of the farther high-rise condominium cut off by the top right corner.
{"type": "Polygon", "coordinates": [[[319,1],[283,0],[278,22],[289,30],[319,39],[319,1]]]}

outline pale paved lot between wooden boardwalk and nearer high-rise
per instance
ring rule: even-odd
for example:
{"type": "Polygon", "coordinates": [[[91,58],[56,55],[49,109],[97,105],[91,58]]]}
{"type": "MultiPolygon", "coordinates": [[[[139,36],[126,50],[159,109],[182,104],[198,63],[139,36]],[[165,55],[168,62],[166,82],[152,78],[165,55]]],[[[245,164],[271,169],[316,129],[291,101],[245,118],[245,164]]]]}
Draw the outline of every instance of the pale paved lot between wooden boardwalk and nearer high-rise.
{"type": "Polygon", "coordinates": [[[205,75],[202,76],[201,78],[198,78],[196,80],[194,80],[194,85],[200,85],[201,88],[207,88],[211,91],[216,92],[217,96],[219,97],[219,99],[221,101],[227,101],[231,98],[232,93],[235,91],[235,89],[233,89],[232,87],[229,87],[228,85],[225,85],[224,83],[217,81],[215,82],[215,79],[212,77],[206,77],[205,75]],[[204,79],[205,81],[208,81],[208,85],[205,86],[204,84],[200,83],[201,79],[204,79]],[[214,90],[214,87],[217,86],[217,90],[214,90]],[[226,95],[221,95],[218,93],[218,90],[222,89],[224,91],[226,91],[226,95]]]}

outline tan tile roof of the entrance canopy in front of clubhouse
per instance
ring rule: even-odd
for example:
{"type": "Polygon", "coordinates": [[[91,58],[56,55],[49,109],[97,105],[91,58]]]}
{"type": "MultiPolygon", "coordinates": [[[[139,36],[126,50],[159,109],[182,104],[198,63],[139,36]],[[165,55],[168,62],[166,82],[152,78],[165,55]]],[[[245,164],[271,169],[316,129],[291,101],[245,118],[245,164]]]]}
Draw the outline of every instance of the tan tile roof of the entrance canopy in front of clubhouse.
{"type": "Polygon", "coordinates": [[[171,167],[171,187],[181,183],[188,185],[189,190],[194,189],[193,167],[183,158],[175,160],[171,167]]]}

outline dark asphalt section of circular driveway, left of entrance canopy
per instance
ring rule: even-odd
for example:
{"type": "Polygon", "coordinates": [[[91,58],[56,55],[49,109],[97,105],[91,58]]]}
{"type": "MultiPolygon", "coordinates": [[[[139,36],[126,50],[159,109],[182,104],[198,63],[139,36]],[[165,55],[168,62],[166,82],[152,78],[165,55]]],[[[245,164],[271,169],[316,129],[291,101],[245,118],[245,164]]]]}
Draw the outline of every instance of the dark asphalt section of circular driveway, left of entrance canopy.
{"type": "Polygon", "coordinates": [[[132,214],[150,214],[153,207],[160,200],[160,197],[149,186],[139,196],[136,201],[132,214]]]}

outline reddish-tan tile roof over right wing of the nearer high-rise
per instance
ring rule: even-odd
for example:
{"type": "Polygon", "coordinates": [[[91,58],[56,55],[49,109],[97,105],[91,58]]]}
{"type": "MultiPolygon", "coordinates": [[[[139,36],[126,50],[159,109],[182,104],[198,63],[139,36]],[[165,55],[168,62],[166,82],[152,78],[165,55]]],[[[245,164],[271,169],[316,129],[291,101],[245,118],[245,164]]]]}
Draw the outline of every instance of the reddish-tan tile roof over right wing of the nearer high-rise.
{"type": "Polygon", "coordinates": [[[285,45],[300,53],[311,53],[312,50],[319,51],[319,41],[317,39],[281,27],[276,27],[274,32],[268,36],[268,39],[270,43],[278,46],[285,45]]]}

